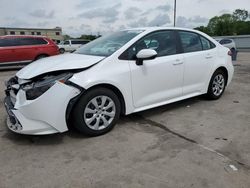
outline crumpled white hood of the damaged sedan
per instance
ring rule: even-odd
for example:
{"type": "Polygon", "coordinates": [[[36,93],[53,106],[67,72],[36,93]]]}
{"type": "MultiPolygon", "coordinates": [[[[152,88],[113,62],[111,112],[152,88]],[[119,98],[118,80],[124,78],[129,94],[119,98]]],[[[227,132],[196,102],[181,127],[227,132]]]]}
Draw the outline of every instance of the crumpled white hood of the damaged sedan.
{"type": "Polygon", "coordinates": [[[31,79],[44,73],[88,68],[105,57],[81,54],[63,54],[34,61],[16,73],[21,79],[31,79]]]}

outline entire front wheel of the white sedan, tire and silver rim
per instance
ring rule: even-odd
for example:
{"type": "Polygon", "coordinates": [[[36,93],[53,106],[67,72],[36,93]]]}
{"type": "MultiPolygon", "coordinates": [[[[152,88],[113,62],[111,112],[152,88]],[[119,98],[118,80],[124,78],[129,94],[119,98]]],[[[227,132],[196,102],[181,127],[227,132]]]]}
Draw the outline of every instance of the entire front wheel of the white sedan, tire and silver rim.
{"type": "Polygon", "coordinates": [[[77,102],[71,122],[86,136],[100,136],[114,128],[120,113],[121,104],[117,95],[106,88],[95,88],[77,102]]]}

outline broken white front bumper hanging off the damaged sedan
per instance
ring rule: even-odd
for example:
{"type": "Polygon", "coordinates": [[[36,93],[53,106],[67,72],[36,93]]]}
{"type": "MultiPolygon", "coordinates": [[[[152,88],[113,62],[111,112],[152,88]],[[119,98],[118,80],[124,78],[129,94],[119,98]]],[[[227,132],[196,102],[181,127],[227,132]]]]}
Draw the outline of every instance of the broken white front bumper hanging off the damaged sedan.
{"type": "Polygon", "coordinates": [[[13,104],[7,91],[4,102],[7,126],[16,133],[29,135],[65,132],[68,103],[79,93],[79,89],[57,82],[35,100],[26,100],[25,92],[20,89],[13,104]]]}

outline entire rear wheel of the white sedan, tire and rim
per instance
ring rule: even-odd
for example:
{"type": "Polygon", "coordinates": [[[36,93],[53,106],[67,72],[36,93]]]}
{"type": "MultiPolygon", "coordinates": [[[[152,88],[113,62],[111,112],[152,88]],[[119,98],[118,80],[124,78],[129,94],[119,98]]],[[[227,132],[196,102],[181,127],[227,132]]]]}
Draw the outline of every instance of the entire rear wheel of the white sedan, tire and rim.
{"type": "Polygon", "coordinates": [[[224,71],[216,70],[211,77],[207,97],[211,100],[219,99],[225,91],[227,84],[227,77],[224,71]]]}

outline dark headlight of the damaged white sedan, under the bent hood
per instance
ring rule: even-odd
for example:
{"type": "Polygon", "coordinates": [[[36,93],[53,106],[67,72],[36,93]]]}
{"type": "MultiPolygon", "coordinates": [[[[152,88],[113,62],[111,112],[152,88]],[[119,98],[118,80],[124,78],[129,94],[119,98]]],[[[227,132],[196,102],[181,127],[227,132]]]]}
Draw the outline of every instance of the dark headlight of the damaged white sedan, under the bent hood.
{"type": "Polygon", "coordinates": [[[27,100],[34,100],[45,93],[51,88],[57,81],[65,83],[73,74],[65,73],[57,76],[45,76],[42,79],[23,86],[23,90],[26,93],[27,100]]]}

